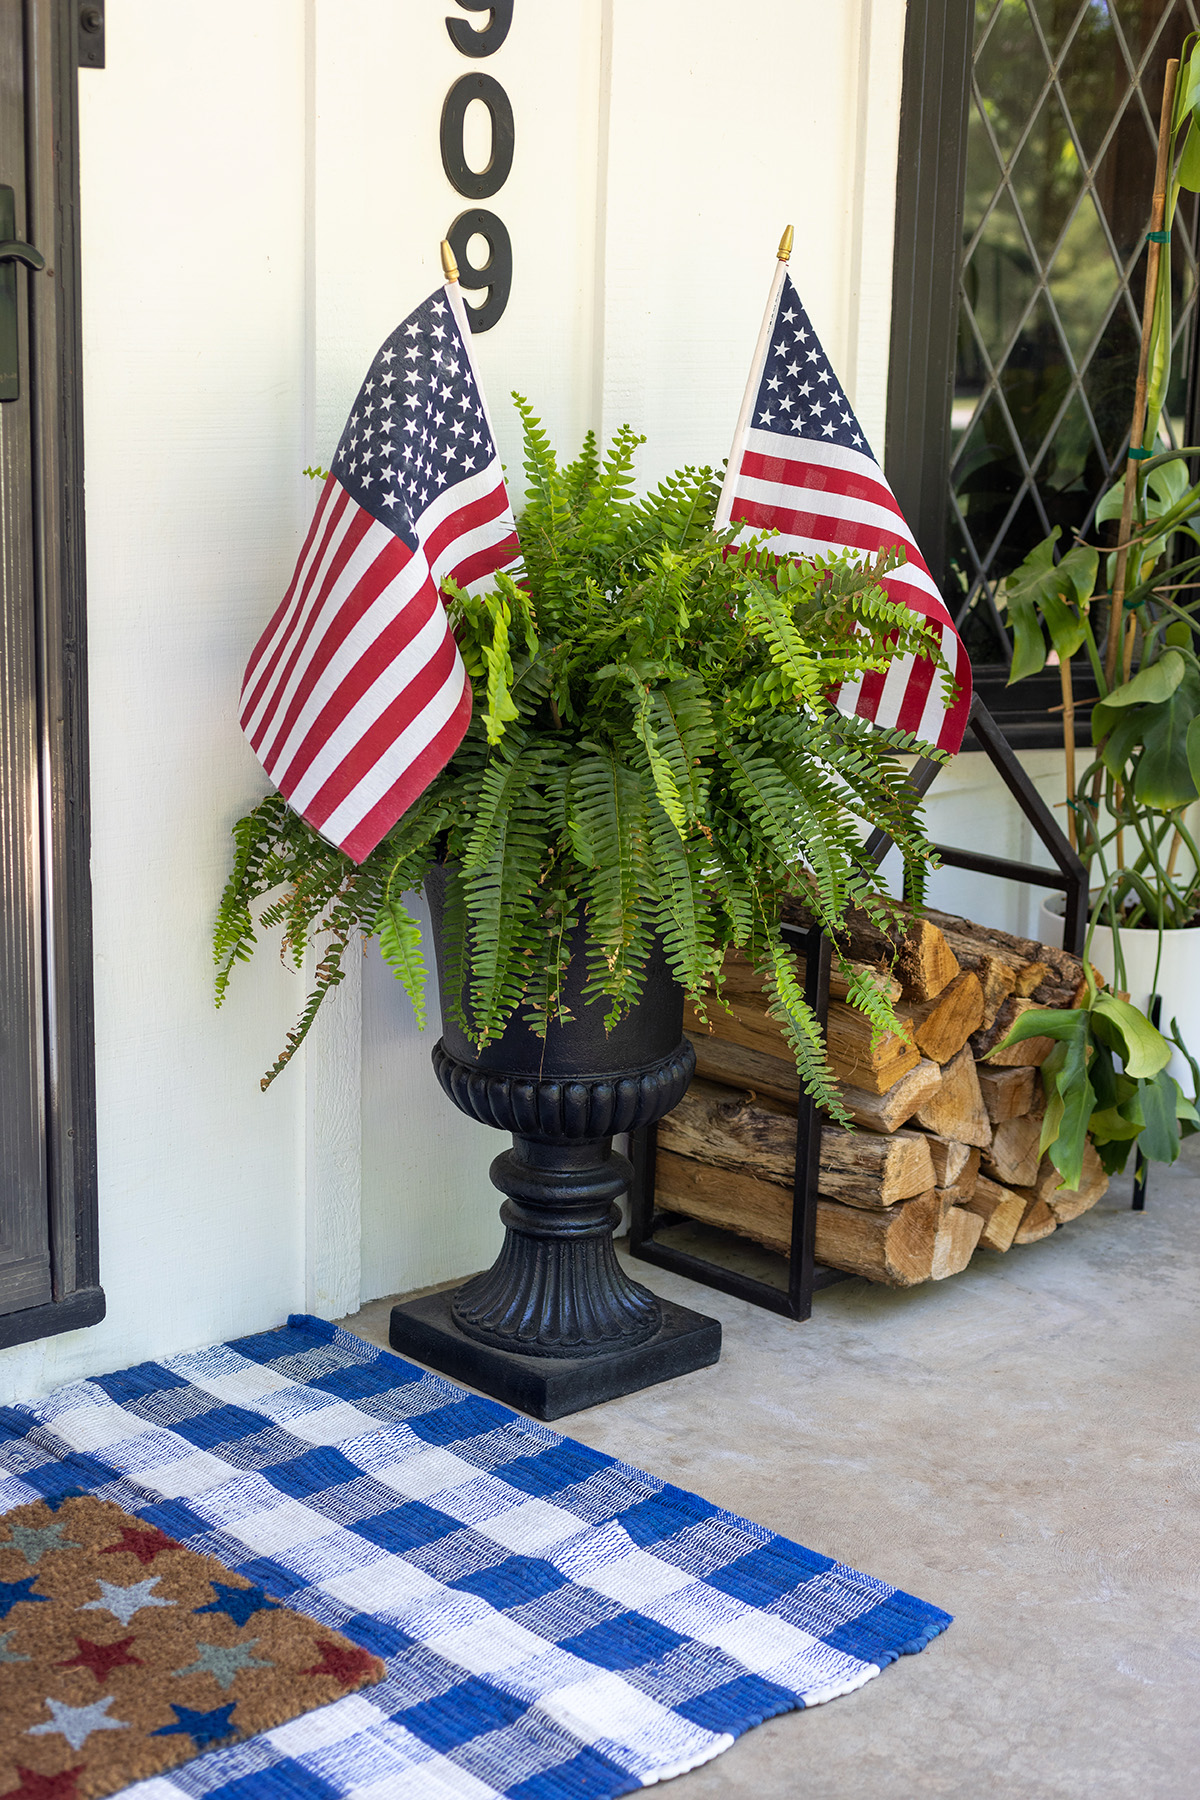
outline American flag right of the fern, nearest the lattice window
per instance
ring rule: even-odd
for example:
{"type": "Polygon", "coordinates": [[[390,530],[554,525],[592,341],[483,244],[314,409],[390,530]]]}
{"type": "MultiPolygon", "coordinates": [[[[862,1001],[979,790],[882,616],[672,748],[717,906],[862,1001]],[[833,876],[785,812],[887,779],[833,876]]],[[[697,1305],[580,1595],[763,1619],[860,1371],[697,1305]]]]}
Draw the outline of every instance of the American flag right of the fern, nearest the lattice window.
{"type": "Polygon", "coordinates": [[[912,731],[955,752],[972,707],[972,666],[925,567],[883,470],[871,454],[842,383],[777,265],[766,319],[729,457],[718,526],[745,522],[745,536],[775,527],[781,556],[874,553],[900,544],[907,562],[883,576],[889,599],[941,628],[941,650],[957,693],[946,707],[943,677],[928,657],[898,657],[837,695],[842,713],[912,731]]]}

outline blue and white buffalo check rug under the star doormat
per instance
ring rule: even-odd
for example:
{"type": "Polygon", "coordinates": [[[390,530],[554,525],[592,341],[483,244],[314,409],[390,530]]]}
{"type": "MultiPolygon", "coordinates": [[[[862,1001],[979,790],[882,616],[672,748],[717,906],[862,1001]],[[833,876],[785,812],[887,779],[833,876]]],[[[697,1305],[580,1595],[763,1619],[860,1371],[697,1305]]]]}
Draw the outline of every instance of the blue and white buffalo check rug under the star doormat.
{"type": "Polygon", "coordinates": [[[387,1667],[137,1800],[610,1800],[950,1624],[311,1318],[0,1411],[0,1514],[68,1492],[387,1667]]]}

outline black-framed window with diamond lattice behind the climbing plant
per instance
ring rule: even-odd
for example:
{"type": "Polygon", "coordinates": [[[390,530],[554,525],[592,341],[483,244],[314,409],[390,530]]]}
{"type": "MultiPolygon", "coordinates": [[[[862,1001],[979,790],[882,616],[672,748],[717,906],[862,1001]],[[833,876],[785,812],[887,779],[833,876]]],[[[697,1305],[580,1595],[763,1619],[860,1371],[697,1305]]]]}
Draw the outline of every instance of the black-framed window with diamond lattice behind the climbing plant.
{"type": "MultiPolygon", "coordinates": [[[[1042,731],[1025,684],[1004,693],[995,585],[1054,526],[1092,533],[1124,466],[1164,67],[1198,25],[1200,0],[909,9],[889,470],[986,698],[1024,709],[1018,742],[1042,731]]],[[[1195,443],[1193,196],[1169,254],[1164,428],[1195,443]]]]}

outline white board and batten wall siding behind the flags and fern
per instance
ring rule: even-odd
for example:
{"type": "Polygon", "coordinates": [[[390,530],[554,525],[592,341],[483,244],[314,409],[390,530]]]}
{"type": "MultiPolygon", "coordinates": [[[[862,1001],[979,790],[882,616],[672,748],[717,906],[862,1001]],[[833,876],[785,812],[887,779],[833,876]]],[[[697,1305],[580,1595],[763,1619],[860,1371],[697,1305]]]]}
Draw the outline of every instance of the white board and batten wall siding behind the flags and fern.
{"type": "MultiPolygon", "coordinates": [[[[516,0],[466,59],[443,5],[212,0],[108,9],[81,76],[101,1260],[108,1318],[0,1352],[0,1400],[360,1298],[498,1242],[498,1134],[443,1098],[374,947],[270,1089],[304,995],[270,950],[212,1010],[228,826],[263,792],[243,662],[291,572],[381,338],[471,202],[437,133],[459,76],[506,88],[516,153],[484,203],[513,293],[479,340],[572,450],[649,437],[651,481],[718,463],[772,254],[876,445],[887,383],[905,0],[516,0]]],[[[470,20],[468,14],[462,14],[470,20]]],[[[477,108],[473,108],[475,112],[477,108]]],[[[486,131],[468,113],[473,166],[486,131]]],[[[432,961],[432,959],[430,959],[432,961]]]]}

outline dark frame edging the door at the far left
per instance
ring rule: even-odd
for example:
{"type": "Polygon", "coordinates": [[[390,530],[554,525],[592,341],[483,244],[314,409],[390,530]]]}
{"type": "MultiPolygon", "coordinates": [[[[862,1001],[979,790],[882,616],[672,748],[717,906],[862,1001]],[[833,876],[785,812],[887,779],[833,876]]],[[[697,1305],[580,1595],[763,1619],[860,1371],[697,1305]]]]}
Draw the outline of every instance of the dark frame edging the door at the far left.
{"type": "MultiPolygon", "coordinates": [[[[0,1314],[0,1348],[95,1325],[99,1274],[88,799],[79,5],[25,0],[32,290],[34,581],[40,616],[45,1132],[52,1300],[0,1314]]],[[[0,796],[0,805],[4,799],[0,796]]],[[[32,1046],[31,1046],[32,1049],[32,1046]]]]}

